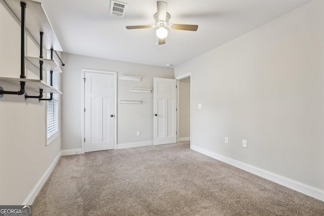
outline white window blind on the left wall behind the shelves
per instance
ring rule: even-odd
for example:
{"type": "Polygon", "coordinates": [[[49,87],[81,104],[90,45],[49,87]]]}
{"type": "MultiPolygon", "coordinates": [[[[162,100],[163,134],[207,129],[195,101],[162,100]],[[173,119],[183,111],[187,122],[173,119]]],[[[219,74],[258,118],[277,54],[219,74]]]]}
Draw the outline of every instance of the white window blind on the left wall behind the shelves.
{"type": "MultiPolygon", "coordinates": [[[[47,72],[47,83],[51,84],[51,73],[47,72]]],[[[53,87],[59,89],[59,74],[53,72],[53,87]]],[[[47,94],[50,98],[50,94],[47,94]]],[[[53,94],[53,100],[47,101],[47,140],[48,144],[54,140],[59,133],[59,95],[53,94]]]]}

